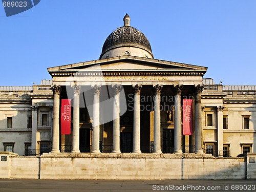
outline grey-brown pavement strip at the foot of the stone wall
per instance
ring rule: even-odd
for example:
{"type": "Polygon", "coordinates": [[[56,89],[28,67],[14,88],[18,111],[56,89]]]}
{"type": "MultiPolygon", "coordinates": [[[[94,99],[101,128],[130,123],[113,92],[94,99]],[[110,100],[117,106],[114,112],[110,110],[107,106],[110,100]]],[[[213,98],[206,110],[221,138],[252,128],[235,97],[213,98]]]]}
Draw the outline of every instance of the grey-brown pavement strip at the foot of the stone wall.
{"type": "MultiPolygon", "coordinates": [[[[147,181],[147,180],[25,180],[0,179],[0,191],[56,192],[56,191],[234,191],[231,187],[243,187],[240,191],[256,191],[255,180],[227,181],[147,181]],[[184,188],[185,187],[185,188],[184,188]],[[190,188],[189,188],[190,187],[190,188]],[[193,188],[194,187],[194,188],[193,188]],[[219,188],[218,188],[219,187],[219,188]],[[225,189],[228,190],[224,190],[225,189]],[[246,190],[245,190],[246,187],[246,190]],[[165,190],[163,190],[165,189],[165,190]],[[181,189],[181,190],[175,190],[181,189]],[[191,190],[194,189],[194,190],[191,190]],[[201,189],[201,190],[200,190],[201,189]],[[209,189],[208,189],[209,190],[209,189]]],[[[234,188],[235,189],[235,188],[234,188]]]]}

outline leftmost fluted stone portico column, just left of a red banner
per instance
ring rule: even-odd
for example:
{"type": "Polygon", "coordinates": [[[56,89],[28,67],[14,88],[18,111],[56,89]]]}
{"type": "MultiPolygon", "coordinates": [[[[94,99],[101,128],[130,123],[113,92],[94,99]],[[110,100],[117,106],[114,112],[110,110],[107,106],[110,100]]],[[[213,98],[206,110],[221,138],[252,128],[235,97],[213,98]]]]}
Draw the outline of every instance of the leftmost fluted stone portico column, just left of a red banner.
{"type": "Polygon", "coordinates": [[[52,153],[59,152],[59,95],[61,88],[60,86],[51,87],[53,96],[53,138],[52,138],[52,153]]]}

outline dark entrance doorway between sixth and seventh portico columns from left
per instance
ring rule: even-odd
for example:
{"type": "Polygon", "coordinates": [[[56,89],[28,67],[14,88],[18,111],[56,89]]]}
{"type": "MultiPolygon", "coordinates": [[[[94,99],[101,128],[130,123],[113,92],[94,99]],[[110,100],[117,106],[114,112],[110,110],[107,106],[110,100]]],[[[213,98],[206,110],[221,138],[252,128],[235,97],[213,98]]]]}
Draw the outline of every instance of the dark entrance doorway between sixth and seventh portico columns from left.
{"type": "Polygon", "coordinates": [[[163,153],[174,152],[174,129],[163,129],[163,153]]]}

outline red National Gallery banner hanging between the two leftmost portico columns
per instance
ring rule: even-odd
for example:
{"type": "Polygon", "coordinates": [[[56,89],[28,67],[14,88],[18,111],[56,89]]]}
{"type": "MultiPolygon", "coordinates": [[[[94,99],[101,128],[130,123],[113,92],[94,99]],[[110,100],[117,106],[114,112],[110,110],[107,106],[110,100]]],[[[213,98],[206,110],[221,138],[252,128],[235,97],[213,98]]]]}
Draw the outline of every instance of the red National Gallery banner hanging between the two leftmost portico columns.
{"type": "Polygon", "coordinates": [[[71,99],[61,100],[61,134],[71,134],[71,99]]]}

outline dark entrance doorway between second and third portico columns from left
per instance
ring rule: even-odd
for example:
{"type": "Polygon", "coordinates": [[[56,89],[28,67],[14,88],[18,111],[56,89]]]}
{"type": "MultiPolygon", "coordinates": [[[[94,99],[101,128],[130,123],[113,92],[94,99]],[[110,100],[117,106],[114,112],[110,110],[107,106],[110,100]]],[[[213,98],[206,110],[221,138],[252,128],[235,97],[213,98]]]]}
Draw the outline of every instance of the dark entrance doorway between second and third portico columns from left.
{"type": "Polygon", "coordinates": [[[79,150],[81,153],[90,153],[90,129],[79,129],[79,150]]]}

